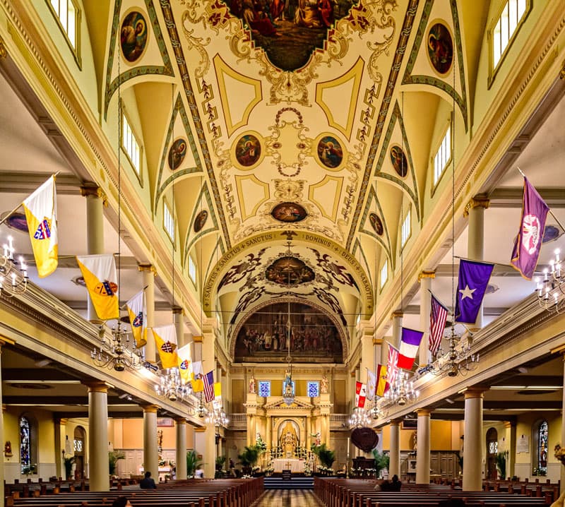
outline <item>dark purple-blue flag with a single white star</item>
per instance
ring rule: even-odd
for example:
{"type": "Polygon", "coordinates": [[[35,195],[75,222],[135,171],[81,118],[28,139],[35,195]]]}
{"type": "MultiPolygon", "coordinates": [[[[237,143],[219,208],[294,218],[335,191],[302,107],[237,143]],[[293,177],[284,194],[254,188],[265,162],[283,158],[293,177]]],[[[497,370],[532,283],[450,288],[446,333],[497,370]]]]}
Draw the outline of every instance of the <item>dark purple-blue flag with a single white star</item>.
{"type": "Polygon", "coordinates": [[[494,264],[461,259],[455,304],[456,322],[475,323],[493,268],[494,264]]]}

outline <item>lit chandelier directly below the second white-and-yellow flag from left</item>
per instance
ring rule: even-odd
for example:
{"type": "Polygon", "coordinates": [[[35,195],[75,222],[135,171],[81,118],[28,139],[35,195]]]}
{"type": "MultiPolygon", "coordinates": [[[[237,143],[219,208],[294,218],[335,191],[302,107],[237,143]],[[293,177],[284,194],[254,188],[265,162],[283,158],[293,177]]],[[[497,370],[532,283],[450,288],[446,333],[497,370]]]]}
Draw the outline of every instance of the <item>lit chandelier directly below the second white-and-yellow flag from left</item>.
{"type": "Polygon", "coordinates": [[[90,353],[93,363],[99,368],[114,369],[114,371],[124,371],[124,369],[147,368],[155,371],[155,366],[146,362],[141,355],[141,350],[130,348],[130,339],[126,328],[114,326],[112,328],[112,339],[107,340],[104,328],[100,326],[100,347],[94,347],[90,353]]]}

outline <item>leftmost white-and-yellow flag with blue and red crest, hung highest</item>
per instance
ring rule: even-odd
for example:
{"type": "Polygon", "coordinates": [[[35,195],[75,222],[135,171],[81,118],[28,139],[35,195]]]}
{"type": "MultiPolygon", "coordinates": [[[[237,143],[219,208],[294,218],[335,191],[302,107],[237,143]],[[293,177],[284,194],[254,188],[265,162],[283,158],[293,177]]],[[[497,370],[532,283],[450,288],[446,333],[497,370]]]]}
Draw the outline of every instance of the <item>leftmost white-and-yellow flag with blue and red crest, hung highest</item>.
{"type": "Polygon", "coordinates": [[[57,269],[57,195],[53,175],[23,201],[37,274],[40,278],[57,269]]]}

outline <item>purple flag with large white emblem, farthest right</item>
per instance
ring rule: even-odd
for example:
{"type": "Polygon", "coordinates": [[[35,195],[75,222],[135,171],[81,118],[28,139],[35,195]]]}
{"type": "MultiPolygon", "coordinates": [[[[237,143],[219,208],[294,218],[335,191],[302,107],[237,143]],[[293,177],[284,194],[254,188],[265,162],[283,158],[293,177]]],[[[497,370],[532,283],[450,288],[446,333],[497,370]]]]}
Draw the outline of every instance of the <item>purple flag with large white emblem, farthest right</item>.
{"type": "Polygon", "coordinates": [[[545,219],[549,206],[537,190],[524,178],[520,230],[514,240],[510,263],[521,275],[531,280],[542,248],[545,219]]]}

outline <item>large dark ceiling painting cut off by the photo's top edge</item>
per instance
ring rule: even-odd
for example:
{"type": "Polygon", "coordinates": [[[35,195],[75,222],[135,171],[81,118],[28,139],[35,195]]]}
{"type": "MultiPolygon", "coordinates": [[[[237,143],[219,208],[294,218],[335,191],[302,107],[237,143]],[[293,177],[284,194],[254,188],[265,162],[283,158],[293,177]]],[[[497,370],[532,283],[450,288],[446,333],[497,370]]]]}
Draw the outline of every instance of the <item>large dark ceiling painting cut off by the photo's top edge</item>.
{"type": "Polygon", "coordinates": [[[347,16],[350,0],[225,0],[233,16],[251,30],[256,45],[283,71],[308,63],[336,20],[347,16]]]}

